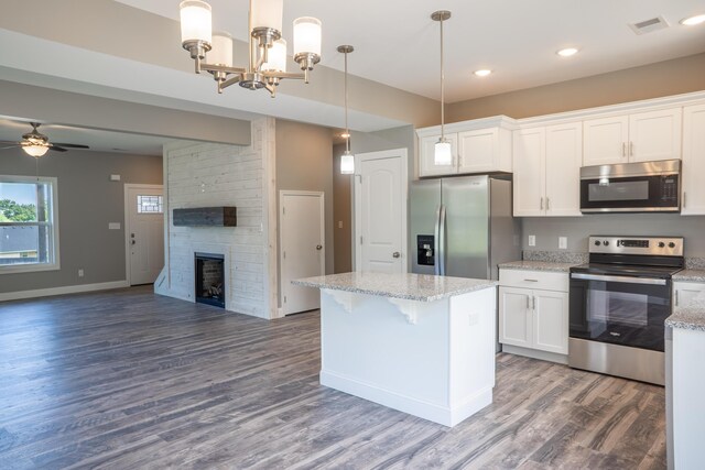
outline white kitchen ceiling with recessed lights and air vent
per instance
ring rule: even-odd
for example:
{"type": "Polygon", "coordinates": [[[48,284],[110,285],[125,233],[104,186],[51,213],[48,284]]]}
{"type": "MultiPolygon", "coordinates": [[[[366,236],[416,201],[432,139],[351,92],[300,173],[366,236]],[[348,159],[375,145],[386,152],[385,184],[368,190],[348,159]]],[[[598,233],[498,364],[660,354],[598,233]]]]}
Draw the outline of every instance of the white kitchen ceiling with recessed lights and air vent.
{"type": "MultiPolygon", "coordinates": [[[[176,0],[118,0],[178,20],[176,0]]],[[[214,30],[247,41],[248,1],[208,0],[214,30]]],[[[679,21],[705,13],[703,0],[286,0],[283,35],[292,21],[323,22],[322,64],[343,69],[340,44],[351,44],[349,72],[429,98],[440,98],[440,29],[445,9],[446,101],[536,87],[705,52],[705,24],[679,21]],[[663,17],[669,28],[637,35],[629,23],[663,17]],[[555,52],[577,47],[563,58],[555,52]],[[494,74],[477,78],[473,72],[494,74]]],[[[290,50],[291,54],[291,50],[290,50]]]]}

